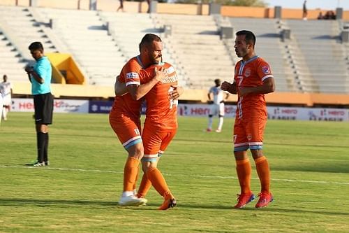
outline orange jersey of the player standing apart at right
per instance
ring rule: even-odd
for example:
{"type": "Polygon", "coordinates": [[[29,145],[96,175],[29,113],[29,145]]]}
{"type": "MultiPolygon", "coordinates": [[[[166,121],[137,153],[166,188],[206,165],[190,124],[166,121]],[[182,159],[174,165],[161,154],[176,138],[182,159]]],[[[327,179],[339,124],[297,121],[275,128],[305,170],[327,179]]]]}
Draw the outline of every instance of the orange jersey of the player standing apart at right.
{"type": "Polygon", "coordinates": [[[258,87],[267,78],[273,78],[270,66],[264,59],[255,56],[235,65],[234,81],[237,85],[237,118],[267,119],[267,106],[264,94],[247,94],[240,97],[240,87],[258,87]]]}

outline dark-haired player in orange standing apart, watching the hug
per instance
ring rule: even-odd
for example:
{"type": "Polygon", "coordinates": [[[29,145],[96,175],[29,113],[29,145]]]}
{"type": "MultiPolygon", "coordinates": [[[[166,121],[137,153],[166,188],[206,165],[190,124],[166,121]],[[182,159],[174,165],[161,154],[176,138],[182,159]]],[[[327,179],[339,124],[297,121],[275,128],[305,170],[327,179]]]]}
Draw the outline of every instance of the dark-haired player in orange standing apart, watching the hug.
{"type": "Polygon", "coordinates": [[[255,35],[251,31],[237,31],[235,52],[242,60],[235,66],[234,82],[223,82],[222,90],[237,94],[237,114],[234,125],[234,155],[241,193],[235,208],[243,208],[255,196],[251,192],[251,163],[247,150],[251,150],[258,177],[260,198],[256,208],[265,207],[273,200],[270,192],[269,164],[262,152],[263,133],[267,122],[264,94],[274,92],[275,83],[270,66],[255,55],[255,35]]]}

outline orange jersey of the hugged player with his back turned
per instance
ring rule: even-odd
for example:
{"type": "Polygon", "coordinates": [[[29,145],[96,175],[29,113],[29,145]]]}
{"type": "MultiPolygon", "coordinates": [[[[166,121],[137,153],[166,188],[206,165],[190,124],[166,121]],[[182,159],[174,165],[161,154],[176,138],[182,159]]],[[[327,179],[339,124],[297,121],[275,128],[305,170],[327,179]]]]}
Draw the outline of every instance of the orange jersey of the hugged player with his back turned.
{"type": "Polygon", "coordinates": [[[169,99],[168,94],[172,92],[173,85],[177,85],[178,79],[173,66],[168,63],[153,65],[140,71],[142,83],[147,83],[154,76],[154,69],[163,66],[168,73],[168,78],[158,82],[145,95],[147,111],[144,125],[151,125],[156,131],[171,132],[177,129],[177,105],[178,100],[169,99]]]}

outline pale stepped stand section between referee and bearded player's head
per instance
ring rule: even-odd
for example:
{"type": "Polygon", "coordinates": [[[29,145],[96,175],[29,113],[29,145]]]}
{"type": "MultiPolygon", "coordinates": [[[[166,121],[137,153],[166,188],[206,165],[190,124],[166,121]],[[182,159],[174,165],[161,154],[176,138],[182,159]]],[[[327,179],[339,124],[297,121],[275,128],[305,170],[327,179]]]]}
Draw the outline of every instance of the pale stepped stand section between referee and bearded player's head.
{"type": "Polygon", "coordinates": [[[97,11],[36,8],[66,48],[91,85],[114,85],[126,57],[121,53],[97,11]]]}

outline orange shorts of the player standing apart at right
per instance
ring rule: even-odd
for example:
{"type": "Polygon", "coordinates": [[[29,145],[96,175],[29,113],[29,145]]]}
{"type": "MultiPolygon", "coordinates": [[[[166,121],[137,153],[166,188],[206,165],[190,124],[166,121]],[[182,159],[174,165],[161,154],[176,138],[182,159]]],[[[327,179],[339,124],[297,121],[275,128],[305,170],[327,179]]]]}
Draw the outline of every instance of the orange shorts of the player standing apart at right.
{"type": "Polygon", "coordinates": [[[235,119],[234,151],[257,150],[263,148],[263,134],[266,119],[246,118],[235,119]]]}

